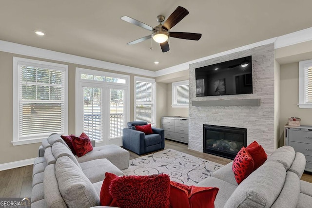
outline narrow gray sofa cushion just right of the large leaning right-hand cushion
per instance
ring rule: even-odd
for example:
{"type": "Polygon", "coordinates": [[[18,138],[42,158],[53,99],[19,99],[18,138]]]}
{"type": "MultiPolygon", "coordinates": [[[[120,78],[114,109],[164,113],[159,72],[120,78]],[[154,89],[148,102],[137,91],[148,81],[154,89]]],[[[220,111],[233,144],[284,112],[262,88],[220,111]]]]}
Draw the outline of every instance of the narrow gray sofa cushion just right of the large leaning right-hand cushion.
{"type": "Polygon", "coordinates": [[[288,171],[282,191],[272,208],[295,208],[299,198],[300,182],[294,172],[288,171]]]}

